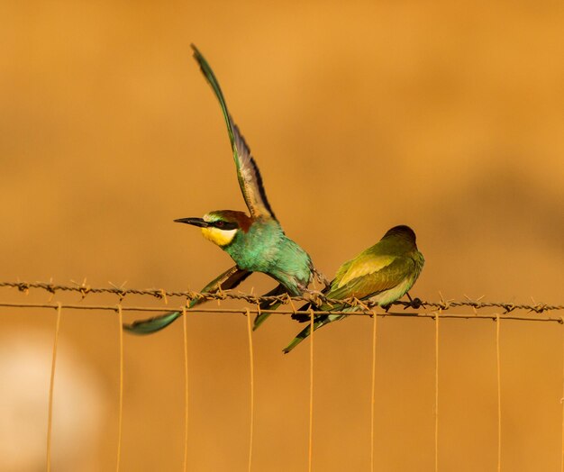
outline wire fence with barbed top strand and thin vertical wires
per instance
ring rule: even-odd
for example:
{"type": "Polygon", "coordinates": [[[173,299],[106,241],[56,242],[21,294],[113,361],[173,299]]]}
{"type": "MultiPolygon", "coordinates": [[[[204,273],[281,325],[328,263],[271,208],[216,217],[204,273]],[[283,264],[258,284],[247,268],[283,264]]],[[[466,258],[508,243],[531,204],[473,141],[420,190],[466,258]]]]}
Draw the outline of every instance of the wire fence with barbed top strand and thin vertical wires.
{"type": "MultiPolygon", "coordinates": [[[[376,364],[377,364],[377,338],[378,338],[378,318],[380,317],[410,317],[410,318],[432,318],[434,320],[434,337],[435,337],[435,398],[434,398],[434,468],[439,470],[438,449],[439,449],[439,333],[440,320],[443,319],[468,319],[468,320],[494,320],[496,322],[496,381],[497,381],[497,470],[501,470],[501,445],[502,445],[502,417],[501,417],[501,369],[500,369],[500,349],[499,334],[501,322],[505,320],[516,320],[521,322],[557,322],[564,324],[564,315],[556,315],[553,312],[561,312],[564,310],[563,304],[511,304],[511,303],[493,303],[483,302],[481,300],[464,301],[441,300],[438,302],[428,302],[415,299],[410,302],[397,301],[393,304],[393,308],[383,311],[377,306],[368,304],[355,298],[347,300],[339,300],[338,303],[347,307],[354,307],[354,312],[328,311],[314,312],[296,310],[295,302],[337,302],[336,300],[327,299],[321,294],[304,295],[290,297],[289,295],[278,296],[256,296],[242,294],[238,292],[222,292],[212,294],[202,294],[192,291],[170,292],[162,289],[124,289],[123,287],[92,287],[87,286],[86,281],[72,286],[55,285],[52,283],[27,283],[27,282],[0,282],[0,288],[14,288],[23,294],[29,294],[31,290],[47,292],[50,296],[46,303],[5,303],[0,302],[0,307],[10,308],[27,308],[27,309],[55,309],[57,311],[57,319],[55,326],[53,352],[50,372],[50,395],[49,395],[49,413],[48,413],[48,431],[47,431],[47,470],[50,471],[50,444],[51,444],[51,422],[52,422],[52,397],[53,385],[55,379],[57,346],[59,341],[59,327],[61,314],[63,310],[106,310],[117,313],[118,330],[119,330],[119,359],[120,359],[120,385],[119,385],[119,417],[118,417],[118,444],[116,450],[116,470],[120,469],[121,444],[122,444],[122,418],[123,418],[123,312],[145,312],[145,313],[163,313],[170,311],[183,312],[183,332],[184,332],[184,368],[185,368],[185,453],[184,453],[184,470],[187,470],[187,433],[188,433],[188,362],[187,362],[187,335],[186,335],[186,313],[188,311],[186,305],[191,300],[237,300],[244,306],[241,308],[223,308],[218,305],[214,308],[203,308],[196,306],[191,308],[190,312],[196,313],[240,313],[247,317],[247,331],[249,341],[249,359],[250,359],[250,431],[249,431],[249,471],[252,466],[252,450],[253,450],[253,424],[254,424],[254,363],[253,363],[253,344],[252,329],[250,322],[251,314],[259,313],[277,313],[283,315],[291,315],[294,313],[308,314],[310,316],[310,324],[313,328],[314,315],[317,314],[344,314],[347,316],[371,316],[373,319],[372,329],[372,377],[371,377],[371,425],[370,425],[370,465],[374,471],[374,416],[375,416],[375,385],[376,385],[376,364]],[[55,302],[53,299],[59,292],[73,292],[81,296],[84,300],[86,297],[95,295],[109,294],[115,295],[116,304],[62,304],[55,302]],[[162,306],[127,306],[123,305],[128,295],[150,296],[163,302],[162,306]],[[170,303],[171,298],[183,298],[183,304],[170,303]],[[259,304],[261,302],[281,302],[284,307],[278,310],[261,310],[259,304]],[[396,308],[402,308],[402,311],[394,311],[396,308]],[[410,309],[410,311],[406,311],[410,309]],[[459,313],[454,310],[463,311],[466,309],[470,313],[459,313]],[[488,313],[483,313],[488,312],[488,313]]],[[[310,376],[309,376],[309,443],[308,443],[308,470],[311,472],[313,467],[313,426],[314,426],[314,331],[310,336],[310,376]]],[[[563,372],[563,392],[562,392],[562,448],[561,448],[561,470],[564,472],[564,372],[563,372]]]]}

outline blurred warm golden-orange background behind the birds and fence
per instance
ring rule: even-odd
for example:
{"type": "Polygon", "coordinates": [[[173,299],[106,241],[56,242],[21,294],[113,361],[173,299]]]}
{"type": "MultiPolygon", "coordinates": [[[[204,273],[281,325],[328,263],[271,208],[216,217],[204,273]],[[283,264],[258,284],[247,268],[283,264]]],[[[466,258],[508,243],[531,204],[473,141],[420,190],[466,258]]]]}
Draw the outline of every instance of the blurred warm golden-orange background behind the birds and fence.
{"type": "MultiPolygon", "coordinates": [[[[562,24],[559,1],[4,2],[0,279],[199,289],[232,264],[172,222],[244,207],[195,42],[279,220],[329,277],[405,223],[427,260],[414,295],[562,303],[562,24]]],[[[43,470],[55,313],[0,314],[0,469],[43,470]]],[[[188,327],[189,470],[246,470],[245,319],[194,314],[188,327]]],[[[441,323],[443,471],[496,468],[495,329],[441,323]]],[[[309,349],[280,352],[296,331],[277,316],[254,336],[253,470],[306,469],[309,349]]],[[[58,471],[114,468],[117,335],[113,314],[63,312],[58,471]]],[[[180,470],[182,323],[124,342],[121,470],[180,470]]],[[[314,470],[368,470],[370,352],[367,318],[316,337],[314,470]]],[[[504,469],[559,470],[559,325],[505,322],[501,367],[504,469]]],[[[432,470],[433,402],[433,323],[381,320],[378,470],[432,470]]]]}

